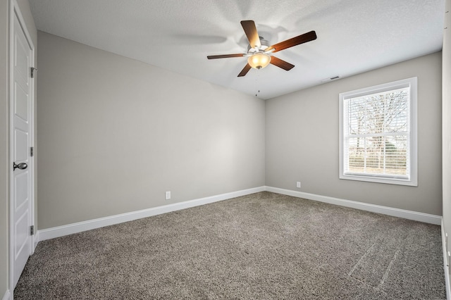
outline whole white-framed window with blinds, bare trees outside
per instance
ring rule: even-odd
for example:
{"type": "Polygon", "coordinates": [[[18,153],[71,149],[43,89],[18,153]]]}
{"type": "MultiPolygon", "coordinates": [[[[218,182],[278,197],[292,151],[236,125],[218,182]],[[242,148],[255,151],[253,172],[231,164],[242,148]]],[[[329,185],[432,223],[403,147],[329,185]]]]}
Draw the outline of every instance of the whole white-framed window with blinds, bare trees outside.
{"type": "Polygon", "coordinates": [[[417,185],[416,77],[340,94],[340,179],[417,185]]]}

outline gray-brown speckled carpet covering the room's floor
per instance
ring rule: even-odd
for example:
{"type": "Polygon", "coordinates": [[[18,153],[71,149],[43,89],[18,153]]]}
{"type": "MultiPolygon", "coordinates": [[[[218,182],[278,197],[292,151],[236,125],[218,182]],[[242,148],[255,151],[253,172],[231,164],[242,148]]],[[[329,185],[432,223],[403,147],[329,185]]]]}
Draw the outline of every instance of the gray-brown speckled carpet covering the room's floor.
{"type": "Polygon", "coordinates": [[[261,192],[39,242],[15,299],[445,299],[440,227],[261,192]]]}

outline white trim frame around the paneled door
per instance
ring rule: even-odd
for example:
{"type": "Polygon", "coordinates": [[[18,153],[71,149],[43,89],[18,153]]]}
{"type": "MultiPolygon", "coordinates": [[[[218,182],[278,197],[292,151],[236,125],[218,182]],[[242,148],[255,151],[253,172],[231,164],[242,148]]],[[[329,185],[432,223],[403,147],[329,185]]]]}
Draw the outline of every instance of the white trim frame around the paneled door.
{"type": "MultiPolygon", "coordinates": [[[[9,266],[9,289],[10,289],[10,295],[11,299],[13,299],[13,292],[14,292],[14,259],[13,259],[13,246],[14,246],[14,224],[13,224],[13,212],[14,212],[14,199],[13,199],[13,187],[14,187],[14,180],[13,180],[13,147],[14,147],[14,135],[13,135],[13,114],[14,114],[14,104],[13,104],[13,82],[14,82],[14,61],[13,61],[13,30],[14,30],[14,18],[18,18],[18,22],[20,26],[22,27],[22,30],[25,34],[25,38],[27,39],[28,45],[31,49],[31,57],[30,57],[30,65],[32,67],[35,67],[35,45],[32,42],[30,32],[27,30],[27,26],[25,24],[25,20],[23,18],[22,13],[20,12],[20,7],[17,3],[17,0],[8,0],[9,2],[9,38],[8,38],[8,50],[9,50],[9,70],[8,70],[8,104],[9,104],[9,120],[8,120],[8,134],[9,134],[9,154],[8,154],[8,180],[9,180],[9,220],[8,220],[8,226],[9,226],[9,247],[8,247],[8,266],[9,266]],[[16,16],[15,16],[16,15],[16,16]]],[[[30,146],[35,146],[35,80],[30,81],[30,98],[31,98],[31,106],[30,106],[30,136],[31,136],[31,144],[30,146]]],[[[30,219],[29,224],[35,225],[35,156],[30,157],[30,166],[31,166],[31,174],[30,174],[30,185],[31,185],[31,191],[30,191],[30,219]]],[[[36,227],[35,227],[35,233],[36,233],[36,227]]],[[[30,238],[30,254],[33,254],[35,252],[35,244],[39,242],[37,240],[37,235],[32,235],[30,238]]]]}

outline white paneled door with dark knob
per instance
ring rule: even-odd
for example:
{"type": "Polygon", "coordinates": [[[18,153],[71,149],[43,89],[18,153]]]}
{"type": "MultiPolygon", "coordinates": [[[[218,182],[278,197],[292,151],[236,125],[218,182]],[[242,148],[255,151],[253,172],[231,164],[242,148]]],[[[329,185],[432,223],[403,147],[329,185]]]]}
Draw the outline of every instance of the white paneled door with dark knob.
{"type": "Polygon", "coordinates": [[[14,12],[11,39],[11,260],[13,288],[32,253],[32,46],[14,12]]]}

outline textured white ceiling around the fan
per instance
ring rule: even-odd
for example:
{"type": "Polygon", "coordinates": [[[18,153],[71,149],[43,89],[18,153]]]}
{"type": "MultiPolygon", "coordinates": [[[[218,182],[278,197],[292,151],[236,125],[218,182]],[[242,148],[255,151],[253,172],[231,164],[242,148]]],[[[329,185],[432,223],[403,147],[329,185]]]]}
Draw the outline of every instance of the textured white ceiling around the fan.
{"type": "Polygon", "coordinates": [[[444,0],[30,0],[38,30],[135,58],[261,99],[442,48],[444,0]],[[249,70],[241,20],[276,44],[318,39],[274,54],[295,65],[249,70]]]}

